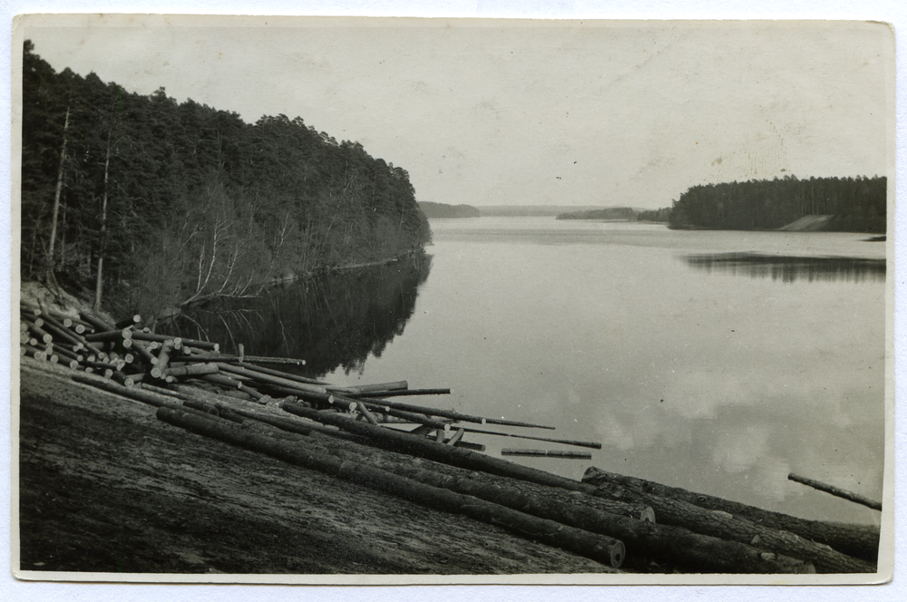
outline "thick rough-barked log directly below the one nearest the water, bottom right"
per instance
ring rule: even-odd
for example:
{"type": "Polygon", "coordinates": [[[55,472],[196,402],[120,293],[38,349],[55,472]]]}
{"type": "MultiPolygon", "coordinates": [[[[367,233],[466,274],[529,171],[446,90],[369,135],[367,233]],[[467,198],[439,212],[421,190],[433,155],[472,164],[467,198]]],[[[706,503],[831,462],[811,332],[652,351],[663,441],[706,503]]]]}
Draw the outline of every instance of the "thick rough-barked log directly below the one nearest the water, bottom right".
{"type": "Polygon", "coordinates": [[[751,544],[767,552],[800,558],[814,564],[820,573],[875,573],[875,565],[842,554],[824,544],[801,538],[777,529],[768,529],[746,519],[737,519],[727,512],[706,510],[685,501],[660,498],[648,493],[628,490],[614,483],[604,483],[596,495],[611,500],[632,500],[647,504],[655,510],[662,524],[676,525],[703,535],[751,544]],[[754,543],[756,542],[756,543],[754,543]]]}

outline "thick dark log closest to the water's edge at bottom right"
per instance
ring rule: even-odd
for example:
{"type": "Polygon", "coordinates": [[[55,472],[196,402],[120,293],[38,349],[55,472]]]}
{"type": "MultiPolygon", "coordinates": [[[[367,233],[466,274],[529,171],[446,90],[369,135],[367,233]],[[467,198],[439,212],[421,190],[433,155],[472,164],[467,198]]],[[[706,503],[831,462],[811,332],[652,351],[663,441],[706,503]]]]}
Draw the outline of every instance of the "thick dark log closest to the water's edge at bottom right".
{"type": "Polygon", "coordinates": [[[736,501],[723,500],[722,498],[678,487],[668,487],[652,481],[644,481],[635,477],[602,471],[594,466],[586,471],[582,481],[590,485],[601,485],[610,482],[622,485],[629,490],[649,493],[671,500],[686,501],[689,504],[694,504],[707,510],[727,512],[737,518],[750,520],[769,529],[795,533],[804,539],[812,539],[818,543],[829,545],[839,552],[854,558],[862,558],[870,562],[875,562],[878,558],[880,537],[878,527],[799,519],[779,512],[747,506],[736,501]]]}

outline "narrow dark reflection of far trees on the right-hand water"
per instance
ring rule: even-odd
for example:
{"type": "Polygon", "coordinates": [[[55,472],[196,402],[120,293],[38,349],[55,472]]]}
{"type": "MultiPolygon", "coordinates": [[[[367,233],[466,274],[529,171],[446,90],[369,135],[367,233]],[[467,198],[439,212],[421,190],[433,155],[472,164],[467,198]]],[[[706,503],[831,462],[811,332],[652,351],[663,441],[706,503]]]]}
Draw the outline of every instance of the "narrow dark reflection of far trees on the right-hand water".
{"type": "Polygon", "coordinates": [[[683,257],[688,266],[735,276],[772,278],[782,282],[805,280],[852,282],[884,281],[885,260],[860,257],[795,257],[758,253],[717,253],[683,257]]]}

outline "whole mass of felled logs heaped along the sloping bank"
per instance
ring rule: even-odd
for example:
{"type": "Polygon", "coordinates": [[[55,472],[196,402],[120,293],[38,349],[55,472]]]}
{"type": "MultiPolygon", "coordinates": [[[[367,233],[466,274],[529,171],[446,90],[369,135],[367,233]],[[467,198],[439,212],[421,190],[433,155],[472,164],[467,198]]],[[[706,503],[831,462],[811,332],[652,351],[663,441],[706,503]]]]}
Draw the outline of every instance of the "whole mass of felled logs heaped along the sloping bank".
{"type": "Polygon", "coordinates": [[[155,406],[161,421],[491,522],[612,568],[626,560],[640,571],[876,572],[877,528],[795,519],[595,468],[582,481],[566,479],[478,453],[483,446],[463,435],[599,443],[465,428],[458,424],[551,427],[388,399],[447,389],[409,389],[405,382],[333,386],[261,367],[268,358],[244,356],[241,347],[239,355],[226,355],[207,341],[155,335],[140,327],[139,316],[112,324],[87,311],[76,319],[30,304],[22,304],[21,316],[24,355],[67,364],[79,383],[155,406]],[[405,423],[416,426],[405,431],[405,423]],[[268,429],[294,435],[268,436],[268,429]],[[312,435],[373,451],[353,459],[326,453],[307,443],[312,435]],[[375,447],[429,462],[401,461],[375,447]]]}

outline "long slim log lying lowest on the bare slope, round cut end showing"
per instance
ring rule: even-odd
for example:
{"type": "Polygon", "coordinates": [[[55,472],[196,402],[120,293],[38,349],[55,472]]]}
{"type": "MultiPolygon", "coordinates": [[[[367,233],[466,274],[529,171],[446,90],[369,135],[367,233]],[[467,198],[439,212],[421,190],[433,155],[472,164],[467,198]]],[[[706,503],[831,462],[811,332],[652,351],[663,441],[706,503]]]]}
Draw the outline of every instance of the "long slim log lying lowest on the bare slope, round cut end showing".
{"type": "Polygon", "coordinates": [[[336,456],[307,452],[284,442],[271,440],[251,432],[243,432],[229,424],[210,422],[189,414],[174,412],[169,408],[159,409],[157,416],[161,421],[170,422],[192,432],[217,438],[219,441],[245,449],[267,453],[297,466],[322,471],[430,508],[462,513],[473,519],[503,526],[524,537],[568,549],[615,568],[623,562],[626,549],[616,539],[564,527],[551,520],[537,519],[498,504],[425,485],[356,462],[343,461],[336,456]]]}

